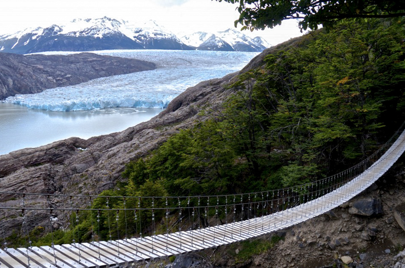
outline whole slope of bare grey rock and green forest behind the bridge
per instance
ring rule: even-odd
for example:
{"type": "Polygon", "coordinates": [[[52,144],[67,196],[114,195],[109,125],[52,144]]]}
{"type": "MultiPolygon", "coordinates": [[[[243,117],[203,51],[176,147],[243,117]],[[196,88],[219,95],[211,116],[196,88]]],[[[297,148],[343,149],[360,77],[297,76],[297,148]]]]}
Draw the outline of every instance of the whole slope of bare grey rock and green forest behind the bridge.
{"type": "MultiPolygon", "coordinates": [[[[342,171],[403,121],[404,22],[342,21],[266,49],[237,74],[187,89],[157,117],[123,132],[2,155],[0,189],[241,193],[342,171]]],[[[12,221],[4,224],[12,230],[12,221]]]]}

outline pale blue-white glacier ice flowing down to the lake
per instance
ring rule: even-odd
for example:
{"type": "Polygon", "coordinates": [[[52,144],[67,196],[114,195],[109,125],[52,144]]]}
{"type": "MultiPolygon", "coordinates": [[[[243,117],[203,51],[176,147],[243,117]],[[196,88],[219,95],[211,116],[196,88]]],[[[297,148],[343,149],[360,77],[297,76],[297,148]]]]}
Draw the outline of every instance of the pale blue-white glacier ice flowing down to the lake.
{"type": "MultiPolygon", "coordinates": [[[[8,97],[6,102],[46,111],[90,111],[115,107],[164,109],[169,102],[200,81],[239,71],[258,52],[201,50],[101,50],[100,55],[134,58],[156,69],[94,79],[41,93],[8,97]]],[[[41,52],[67,55],[77,52],[41,52]]]]}

